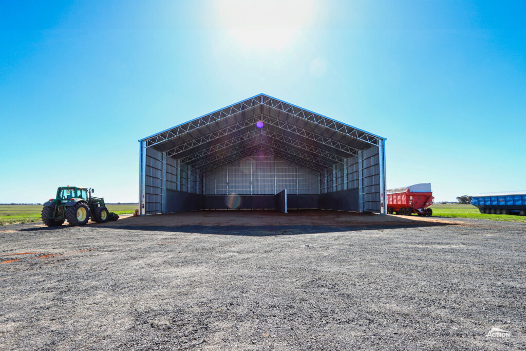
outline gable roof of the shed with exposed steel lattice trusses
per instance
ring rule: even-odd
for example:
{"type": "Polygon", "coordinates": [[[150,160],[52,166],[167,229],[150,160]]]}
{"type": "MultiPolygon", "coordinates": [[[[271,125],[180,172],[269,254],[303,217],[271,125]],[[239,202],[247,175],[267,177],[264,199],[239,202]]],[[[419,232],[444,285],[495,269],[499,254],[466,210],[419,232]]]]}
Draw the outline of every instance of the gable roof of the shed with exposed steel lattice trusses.
{"type": "Polygon", "coordinates": [[[206,172],[263,150],[318,171],[385,138],[259,94],[140,139],[206,172]],[[262,128],[257,128],[262,122],[262,128]]]}

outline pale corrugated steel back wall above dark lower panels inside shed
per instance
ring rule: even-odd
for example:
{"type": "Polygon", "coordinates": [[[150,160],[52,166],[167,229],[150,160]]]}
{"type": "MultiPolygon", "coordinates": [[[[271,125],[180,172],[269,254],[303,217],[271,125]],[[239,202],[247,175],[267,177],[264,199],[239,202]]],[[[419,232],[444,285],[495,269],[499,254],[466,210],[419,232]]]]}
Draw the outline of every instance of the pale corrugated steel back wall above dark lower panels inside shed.
{"type": "Polygon", "coordinates": [[[239,159],[205,175],[206,195],[318,194],[318,173],[264,152],[239,159]]]}

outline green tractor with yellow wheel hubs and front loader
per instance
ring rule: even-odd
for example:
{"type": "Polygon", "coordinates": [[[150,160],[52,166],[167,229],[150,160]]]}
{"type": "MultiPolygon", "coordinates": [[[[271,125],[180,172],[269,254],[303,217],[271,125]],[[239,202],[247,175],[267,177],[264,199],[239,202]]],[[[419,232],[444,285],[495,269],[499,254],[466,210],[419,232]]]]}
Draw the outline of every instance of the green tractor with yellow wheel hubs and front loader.
{"type": "Polygon", "coordinates": [[[89,217],[97,223],[117,220],[119,216],[109,213],[104,198],[93,197],[92,188],[76,186],[61,186],[57,189],[57,196],[49,199],[42,208],[42,222],[48,227],[62,225],[65,220],[70,225],[85,225],[89,217]]]}

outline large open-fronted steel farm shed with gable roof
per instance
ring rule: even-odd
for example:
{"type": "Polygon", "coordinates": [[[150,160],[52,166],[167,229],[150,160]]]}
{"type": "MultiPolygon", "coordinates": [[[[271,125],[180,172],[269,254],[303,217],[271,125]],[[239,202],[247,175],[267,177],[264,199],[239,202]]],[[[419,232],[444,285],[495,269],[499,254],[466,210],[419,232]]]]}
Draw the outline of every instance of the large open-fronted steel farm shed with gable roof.
{"type": "Polygon", "coordinates": [[[140,214],[386,213],[385,138],[259,94],[139,140],[140,214]]]}

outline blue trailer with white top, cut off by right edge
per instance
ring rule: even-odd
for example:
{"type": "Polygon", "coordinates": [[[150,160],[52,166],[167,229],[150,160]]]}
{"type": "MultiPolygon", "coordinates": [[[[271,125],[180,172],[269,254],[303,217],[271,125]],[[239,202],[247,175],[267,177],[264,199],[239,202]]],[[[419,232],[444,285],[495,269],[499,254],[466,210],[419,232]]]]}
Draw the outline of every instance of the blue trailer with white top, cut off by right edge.
{"type": "Polygon", "coordinates": [[[477,206],[480,213],[525,216],[526,190],[473,195],[471,204],[477,206]]]}

